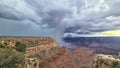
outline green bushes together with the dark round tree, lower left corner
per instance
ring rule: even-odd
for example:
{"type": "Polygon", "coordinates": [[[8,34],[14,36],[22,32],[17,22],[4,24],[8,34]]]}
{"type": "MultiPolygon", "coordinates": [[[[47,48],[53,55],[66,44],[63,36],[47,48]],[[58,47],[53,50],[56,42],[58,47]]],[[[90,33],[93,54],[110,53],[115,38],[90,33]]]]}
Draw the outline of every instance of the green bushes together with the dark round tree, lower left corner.
{"type": "Polygon", "coordinates": [[[14,49],[0,41],[0,68],[26,68],[25,49],[26,45],[20,42],[16,42],[14,49]]]}

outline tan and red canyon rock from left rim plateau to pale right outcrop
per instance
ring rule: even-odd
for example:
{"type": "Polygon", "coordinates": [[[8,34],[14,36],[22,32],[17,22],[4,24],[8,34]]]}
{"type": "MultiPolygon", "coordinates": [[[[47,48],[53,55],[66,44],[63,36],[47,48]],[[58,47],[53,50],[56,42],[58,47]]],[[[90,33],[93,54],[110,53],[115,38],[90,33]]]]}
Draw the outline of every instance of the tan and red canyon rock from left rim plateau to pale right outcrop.
{"type": "Polygon", "coordinates": [[[51,37],[0,37],[0,41],[12,48],[16,42],[27,46],[26,68],[119,68],[120,64],[120,54],[117,58],[111,55],[118,51],[95,44],[94,48],[91,46],[69,49],[59,46],[51,37]],[[99,54],[96,50],[99,50],[99,54]],[[107,55],[107,50],[110,55],[107,55]]]}

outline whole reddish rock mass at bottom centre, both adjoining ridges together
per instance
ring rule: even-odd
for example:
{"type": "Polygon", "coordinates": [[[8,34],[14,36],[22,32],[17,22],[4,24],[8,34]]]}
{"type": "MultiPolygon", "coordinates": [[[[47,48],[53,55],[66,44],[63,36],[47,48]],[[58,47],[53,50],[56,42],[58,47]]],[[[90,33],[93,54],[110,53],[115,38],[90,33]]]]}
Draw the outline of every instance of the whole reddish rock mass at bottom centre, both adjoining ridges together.
{"type": "Polygon", "coordinates": [[[37,58],[38,68],[92,68],[95,53],[87,48],[68,50],[66,47],[53,47],[29,58],[37,58]]]}

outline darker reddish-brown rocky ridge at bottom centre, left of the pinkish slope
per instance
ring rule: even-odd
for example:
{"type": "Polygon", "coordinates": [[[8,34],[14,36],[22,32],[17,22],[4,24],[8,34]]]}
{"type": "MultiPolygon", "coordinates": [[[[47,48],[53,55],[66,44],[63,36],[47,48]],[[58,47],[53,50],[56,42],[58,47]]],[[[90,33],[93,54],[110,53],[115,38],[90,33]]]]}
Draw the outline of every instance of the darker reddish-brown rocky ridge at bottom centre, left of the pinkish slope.
{"type": "MultiPolygon", "coordinates": [[[[49,53],[48,53],[49,54],[49,53]]],[[[53,48],[53,54],[49,54],[40,60],[39,68],[79,68],[72,54],[65,47],[53,48]]]]}

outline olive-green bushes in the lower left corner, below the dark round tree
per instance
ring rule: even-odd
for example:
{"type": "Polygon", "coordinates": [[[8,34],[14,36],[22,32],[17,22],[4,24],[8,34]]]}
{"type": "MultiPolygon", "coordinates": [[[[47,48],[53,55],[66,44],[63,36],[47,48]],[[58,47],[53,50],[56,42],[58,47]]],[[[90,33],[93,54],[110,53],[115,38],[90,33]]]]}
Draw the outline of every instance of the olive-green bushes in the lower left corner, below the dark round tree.
{"type": "Polygon", "coordinates": [[[0,68],[25,68],[25,55],[14,49],[0,49],[0,68]]]}

